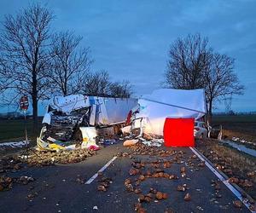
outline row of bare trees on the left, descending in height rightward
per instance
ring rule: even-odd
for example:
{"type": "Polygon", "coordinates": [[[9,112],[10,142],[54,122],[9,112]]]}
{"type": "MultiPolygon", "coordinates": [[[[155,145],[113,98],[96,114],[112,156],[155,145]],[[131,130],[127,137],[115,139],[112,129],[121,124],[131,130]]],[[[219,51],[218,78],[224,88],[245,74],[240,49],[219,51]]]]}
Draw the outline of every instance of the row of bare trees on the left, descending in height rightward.
{"type": "Polygon", "coordinates": [[[33,3],[18,14],[5,16],[0,34],[1,103],[12,104],[29,95],[35,130],[38,101],[51,95],[82,93],[127,98],[131,83],[112,82],[108,72],[91,72],[90,49],[82,37],[55,32],[53,12],[33,3]]]}

